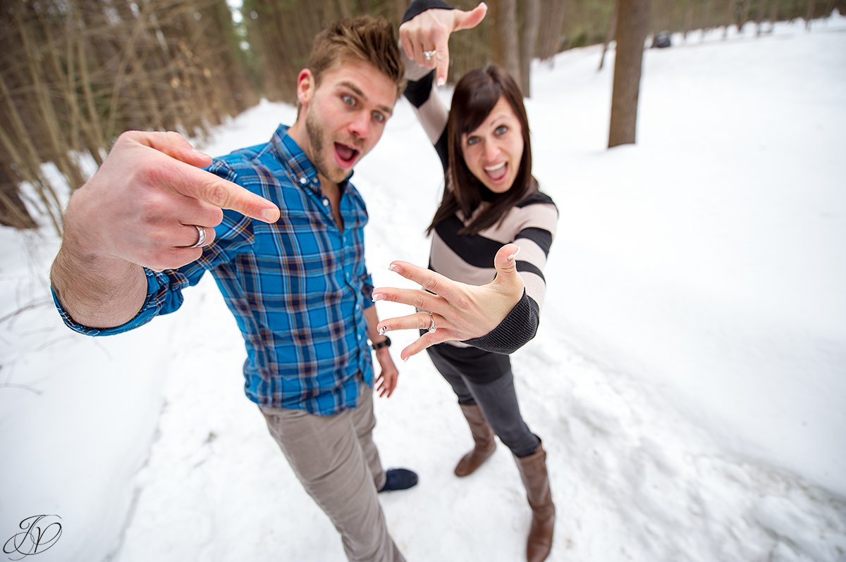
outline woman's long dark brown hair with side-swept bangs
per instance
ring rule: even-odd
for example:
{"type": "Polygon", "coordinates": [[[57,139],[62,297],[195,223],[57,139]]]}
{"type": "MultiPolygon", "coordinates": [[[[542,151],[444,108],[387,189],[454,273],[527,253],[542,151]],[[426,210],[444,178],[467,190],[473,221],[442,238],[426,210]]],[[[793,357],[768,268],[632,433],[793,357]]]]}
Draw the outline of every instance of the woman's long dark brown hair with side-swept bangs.
{"type": "Polygon", "coordinates": [[[523,93],[508,72],[496,64],[471,70],[455,85],[447,128],[449,166],[444,173],[446,185],[441,205],[426,233],[431,233],[439,222],[453,216],[457,210],[461,210],[465,219],[469,218],[484,199],[490,202],[490,206],[460,231],[462,234],[477,234],[496,224],[508,209],[537,188],[531,175],[529,119],[523,105],[523,93]],[[484,123],[500,97],[508,101],[523,129],[523,157],[511,188],[503,194],[495,194],[470,172],[464,161],[461,138],[484,123]]]}

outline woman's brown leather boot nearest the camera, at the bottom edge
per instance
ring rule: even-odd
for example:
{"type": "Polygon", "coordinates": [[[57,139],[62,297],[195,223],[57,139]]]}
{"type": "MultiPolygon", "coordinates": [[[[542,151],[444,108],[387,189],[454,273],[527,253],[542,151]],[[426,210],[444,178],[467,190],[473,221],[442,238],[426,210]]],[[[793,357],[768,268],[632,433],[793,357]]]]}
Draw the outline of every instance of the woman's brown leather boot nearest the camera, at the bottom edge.
{"type": "Polygon", "coordinates": [[[555,528],[555,504],[547,474],[547,451],[542,445],[530,456],[514,457],[520,471],[520,478],[526,488],[526,498],[532,510],[529,540],[526,543],[526,559],[541,562],[552,550],[552,531],[555,528]]]}

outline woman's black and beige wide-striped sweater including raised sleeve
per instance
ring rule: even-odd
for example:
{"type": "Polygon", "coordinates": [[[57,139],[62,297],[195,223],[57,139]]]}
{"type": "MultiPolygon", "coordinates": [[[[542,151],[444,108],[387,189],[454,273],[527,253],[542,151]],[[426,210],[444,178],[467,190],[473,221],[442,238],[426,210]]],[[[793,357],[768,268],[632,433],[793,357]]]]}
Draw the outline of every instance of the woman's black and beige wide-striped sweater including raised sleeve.
{"type": "MultiPolygon", "coordinates": [[[[405,65],[409,79],[405,96],[415,107],[415,113],[446,171],[448,110],[433,88],[434,72],[408,58],[405,65]]],[[[450,342],[455,346],[475,346],[488,352],[511,353],[535,336],[540,322],[541,304],[547,291],[543,268],[555,234],[558,209],[547,194],[535,191],[508,210],[494,226],[478,234],[459,234],[477,213],[484,212],[486,205],[483,201],[470,217],[463,216],[459,210],[435,226],[429,269],[455,281],[484,285],[493,281],[497,274],[493,267],[497,250],[506,243],[519,246],[517,270],[525,281],[525,293],[519,303],[502,323],[485,336],[450,342]]]]}

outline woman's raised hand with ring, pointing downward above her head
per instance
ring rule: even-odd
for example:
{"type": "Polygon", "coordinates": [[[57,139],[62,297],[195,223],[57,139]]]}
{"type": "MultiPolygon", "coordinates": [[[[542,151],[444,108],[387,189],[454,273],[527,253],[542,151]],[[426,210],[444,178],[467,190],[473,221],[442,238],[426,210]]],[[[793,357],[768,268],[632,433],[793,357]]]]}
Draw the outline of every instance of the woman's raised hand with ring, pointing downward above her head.
{"type": "Polygon", "coordinates": [[[482,2],[470,11],[431,8],[399,26],[399,41],[405,56],[426,68],[436,68],[437,85],[447,83],[449,35],[470,30],[485,19],[487,5],[482,2]],[[434,56],[431,53],[434,52],[434,56]],[[428,53],[428,56],[426,56],[428,53]]]}

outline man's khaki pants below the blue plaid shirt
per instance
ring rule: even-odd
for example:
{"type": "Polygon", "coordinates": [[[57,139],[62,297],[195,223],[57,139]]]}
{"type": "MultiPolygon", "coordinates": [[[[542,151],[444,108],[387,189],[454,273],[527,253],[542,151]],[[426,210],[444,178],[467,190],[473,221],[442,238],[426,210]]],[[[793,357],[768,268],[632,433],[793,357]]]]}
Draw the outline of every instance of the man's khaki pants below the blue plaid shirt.
{"type": "Polygon", "coordinates": [[[385,471],[372,438],[373,390],[360,390],[358,406],[334,416],[260,409],[299,482],[341,534],[350,562],[404,562],[376,496],[385,471]]]}

